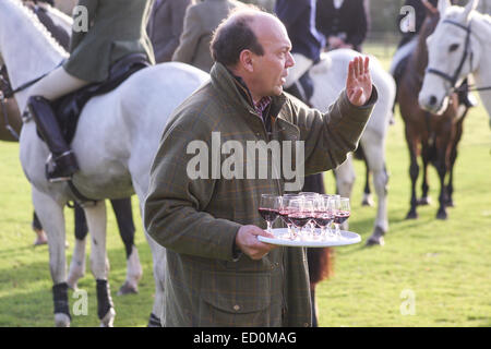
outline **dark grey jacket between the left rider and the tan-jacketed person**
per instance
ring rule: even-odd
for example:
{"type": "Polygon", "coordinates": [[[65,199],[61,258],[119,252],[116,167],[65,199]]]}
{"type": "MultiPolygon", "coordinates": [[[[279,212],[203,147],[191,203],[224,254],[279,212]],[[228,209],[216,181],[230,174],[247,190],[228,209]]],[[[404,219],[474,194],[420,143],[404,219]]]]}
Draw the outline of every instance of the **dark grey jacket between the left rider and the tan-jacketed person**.
{"type": "Polygon", "coordinates": [[[155,0],[146,32],[157,63],[169,62],[179,45],[185,9],[191,0],[155,0]]]}

